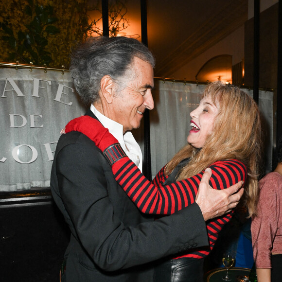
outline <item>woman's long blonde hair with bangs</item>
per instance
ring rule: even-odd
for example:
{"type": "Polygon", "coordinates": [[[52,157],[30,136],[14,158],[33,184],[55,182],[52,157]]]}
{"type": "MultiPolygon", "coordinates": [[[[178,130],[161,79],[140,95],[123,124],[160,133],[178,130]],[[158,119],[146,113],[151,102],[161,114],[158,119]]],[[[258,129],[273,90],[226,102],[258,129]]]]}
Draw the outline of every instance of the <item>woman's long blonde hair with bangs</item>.
{"type": "Polygon", "coordinates": [[[244,185],[244,201],[249,216],[256,213],[258,200],[258,175],[262,149],[262,129],[259,108],[256,102],[239,87],[214,82],[207,86],[201,98],[210,96],[218,106],[218,115],[212,133],[201,150],[192,145],[183,147],[166,166],[170,174],[185,158],[193,157],[177,175],[185,179],[201,171],[215,161],[238,159],[247,167],[247,182],[244,185]]]}

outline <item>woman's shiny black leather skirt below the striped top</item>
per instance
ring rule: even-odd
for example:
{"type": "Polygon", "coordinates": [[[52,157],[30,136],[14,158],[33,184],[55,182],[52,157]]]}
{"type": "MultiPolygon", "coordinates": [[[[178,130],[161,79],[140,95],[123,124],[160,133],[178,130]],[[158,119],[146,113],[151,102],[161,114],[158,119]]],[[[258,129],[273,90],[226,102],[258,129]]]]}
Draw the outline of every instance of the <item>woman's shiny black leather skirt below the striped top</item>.
{"type": "Polygon", "coordinates": [[[203,259],[167,260],[155,267],[155,282],[203,282],[203,259]]]}

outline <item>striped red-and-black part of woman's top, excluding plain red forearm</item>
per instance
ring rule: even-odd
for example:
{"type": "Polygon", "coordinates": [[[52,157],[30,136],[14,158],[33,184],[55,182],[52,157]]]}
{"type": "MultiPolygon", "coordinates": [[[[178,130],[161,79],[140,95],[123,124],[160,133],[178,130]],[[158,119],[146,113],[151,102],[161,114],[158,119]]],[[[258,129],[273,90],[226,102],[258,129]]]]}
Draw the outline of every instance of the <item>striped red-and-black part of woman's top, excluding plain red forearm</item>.
{"type": "MultiPolygon", "coordinates": [[[[171,214],[193,204],[204,173],[201,172],[190,178],[163,185],[168,177],[164,174],[164,168],[150,182],[128,157],[122,158],[112,165],[114,177],[125,193],[141,212],[149,214],[171,214]]],[[[210,168],[212,169],[210,185],[213,189],[225,189],[240,180],[246,182],[247,168],[239,160],[216,161],[210,168]]],[[[219,231],[229,222],[231,217],[232,212],[207,221],[210,248],[194,249],[177,258],[200,259],[207,256],[218,238],[219,231]]]]}

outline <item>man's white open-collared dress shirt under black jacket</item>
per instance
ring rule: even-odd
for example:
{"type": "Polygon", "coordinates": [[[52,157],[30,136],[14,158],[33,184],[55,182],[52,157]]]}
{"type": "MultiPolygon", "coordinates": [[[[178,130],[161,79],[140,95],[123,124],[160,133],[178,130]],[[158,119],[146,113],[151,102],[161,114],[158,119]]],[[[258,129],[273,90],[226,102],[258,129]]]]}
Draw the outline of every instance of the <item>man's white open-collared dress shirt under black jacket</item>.
{"type": "Polygon", "coordinates": [[[141,148],[134,139],[132,133],[130,131],[127,131],[125,134],[123,134],[123,125],[101,114],[95,108],[95,106],[91,105],[90,110],[98,118],[98,120],[109,130],[109,132],[119,141],[125,154],[138,166],[138,168],[142,172],[141,148]]]}

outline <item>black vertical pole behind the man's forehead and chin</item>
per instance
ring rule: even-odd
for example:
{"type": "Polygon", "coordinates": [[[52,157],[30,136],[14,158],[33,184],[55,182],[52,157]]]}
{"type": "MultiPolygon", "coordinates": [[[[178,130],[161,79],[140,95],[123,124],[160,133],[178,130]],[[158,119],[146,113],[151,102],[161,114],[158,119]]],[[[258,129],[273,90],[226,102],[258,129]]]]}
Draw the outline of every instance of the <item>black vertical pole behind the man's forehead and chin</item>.
{"type": "MultiPolygon", "coordinates": [[[[148,46],[147,32],[147,3],[146,0],[141,0],[141,41],[148,46]]],[[[152,180],[151,170],[151,146],[150,146],[150,113],[146,109],[144,112],[144,168],[143,173],[152,180]]]]}

